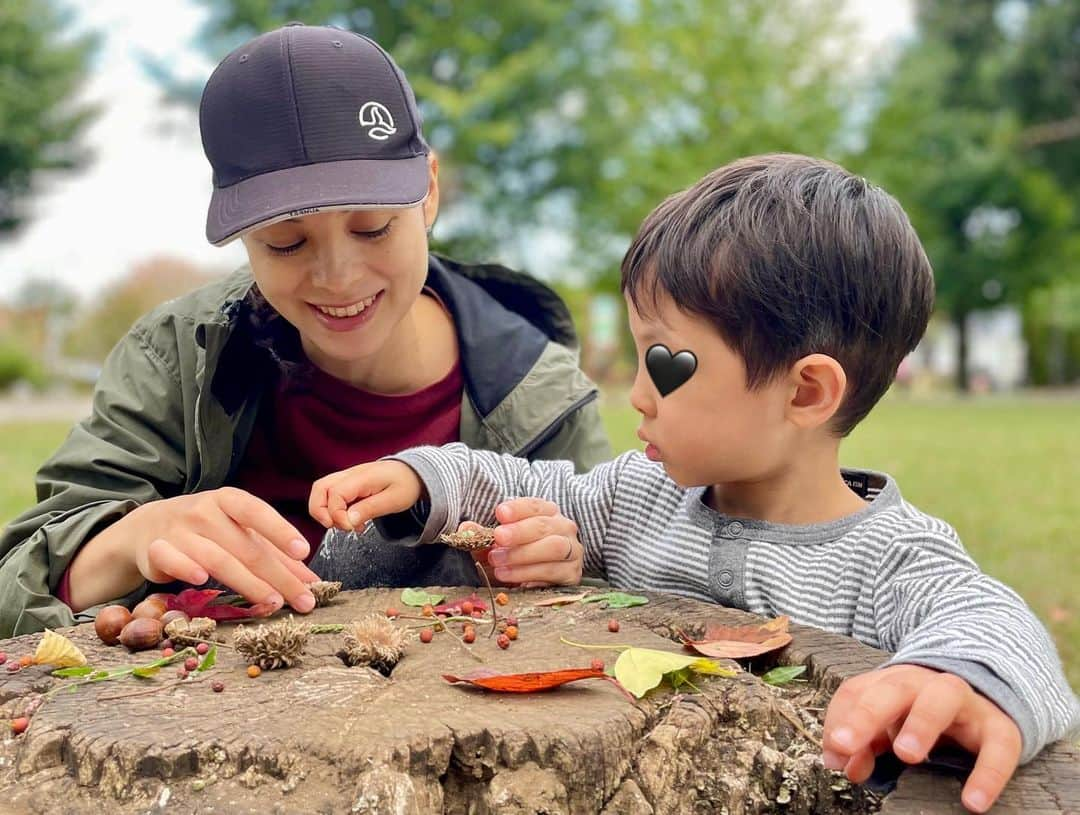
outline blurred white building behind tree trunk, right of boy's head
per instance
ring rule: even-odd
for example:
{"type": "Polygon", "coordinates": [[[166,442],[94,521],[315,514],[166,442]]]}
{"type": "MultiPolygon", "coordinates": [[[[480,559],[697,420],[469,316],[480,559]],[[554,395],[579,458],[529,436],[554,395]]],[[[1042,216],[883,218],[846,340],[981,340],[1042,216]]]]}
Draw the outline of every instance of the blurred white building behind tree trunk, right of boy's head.
{"type": "MultiPolygon", "coordinates": [[[[912,354],[910,365],[948,379],[956,375],[956,327],[935,320],[922,343],[912,354]]],[[[968,317],[968,371],[973,386],[995,391],[1020,388],[1027,381],[1027,343],[1020,309],[1002,305],[974,312],[968,317]]]]}

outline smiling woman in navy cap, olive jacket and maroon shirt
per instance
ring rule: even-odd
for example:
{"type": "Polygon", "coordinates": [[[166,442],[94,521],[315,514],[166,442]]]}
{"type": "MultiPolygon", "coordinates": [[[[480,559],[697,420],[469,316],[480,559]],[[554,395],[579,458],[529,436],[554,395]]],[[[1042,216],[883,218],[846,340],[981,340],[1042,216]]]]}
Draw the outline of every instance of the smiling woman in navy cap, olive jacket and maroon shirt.
{"type": "MultiPolygon", "coordinates": [[[[2,637],[172,581],[215,580],[258,613],[310,611],[316,572],[461,582],[471,563],[446,547],[370,532],[321,546],[312,481],[456,439],[579,468],[609,453],[557,296],[429,255],[438,163],[376,43],[299,24],[262,35],[215,70],[200,127],[207,237],[239,237],[249,264],[159,307],[110,354],[92,415],[38,473],[40,503],[0,540],[2,637]]],[[[508,582],[577,581],[581,547],[554,506],[521,500],[500,519],[508,582]]]]}

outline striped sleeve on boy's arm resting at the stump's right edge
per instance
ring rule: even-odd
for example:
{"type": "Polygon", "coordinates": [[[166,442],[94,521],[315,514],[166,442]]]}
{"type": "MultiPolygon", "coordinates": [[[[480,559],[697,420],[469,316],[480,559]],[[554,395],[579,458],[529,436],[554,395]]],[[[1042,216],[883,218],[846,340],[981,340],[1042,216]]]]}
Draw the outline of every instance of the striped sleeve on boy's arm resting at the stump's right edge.
{"type": "Polygon", "coordinates": [[[1004,710],[1024,738],[1021,761],[1080,724],[1053,640],[1015,592],[983,574],[947,525],[899,535],[874,587],[889,664],[956,674],[1004,710]]]}

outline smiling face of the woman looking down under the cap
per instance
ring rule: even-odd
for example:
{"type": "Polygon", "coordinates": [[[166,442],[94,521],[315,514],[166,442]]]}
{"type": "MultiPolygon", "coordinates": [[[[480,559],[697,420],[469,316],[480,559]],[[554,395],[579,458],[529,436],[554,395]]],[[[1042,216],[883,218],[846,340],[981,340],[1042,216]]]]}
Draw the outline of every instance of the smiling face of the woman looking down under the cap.
{"type": "Polygon", "coordinates": [[[438,209],[434,159],[430,167],[428,198],[417,206],[315,213],[242,239],[262,296],[330,375],[346,378],[378,354],[419,297],[438,209]]]}

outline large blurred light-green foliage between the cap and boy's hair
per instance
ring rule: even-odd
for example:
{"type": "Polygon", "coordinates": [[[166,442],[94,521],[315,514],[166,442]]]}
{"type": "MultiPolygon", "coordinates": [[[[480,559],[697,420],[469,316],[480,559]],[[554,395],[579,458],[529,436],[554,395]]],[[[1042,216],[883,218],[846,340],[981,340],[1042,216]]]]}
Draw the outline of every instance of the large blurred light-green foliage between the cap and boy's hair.
{"type": "Polygon", "coordinates": [[[444,158],[436,237],[463,257],[569,246],[563,279],[610,286],[645,214],[708,169],[837,152],[849,27],[828,0],[203,1],[215,58],[293,19],[386,46],[444,158]]]}

